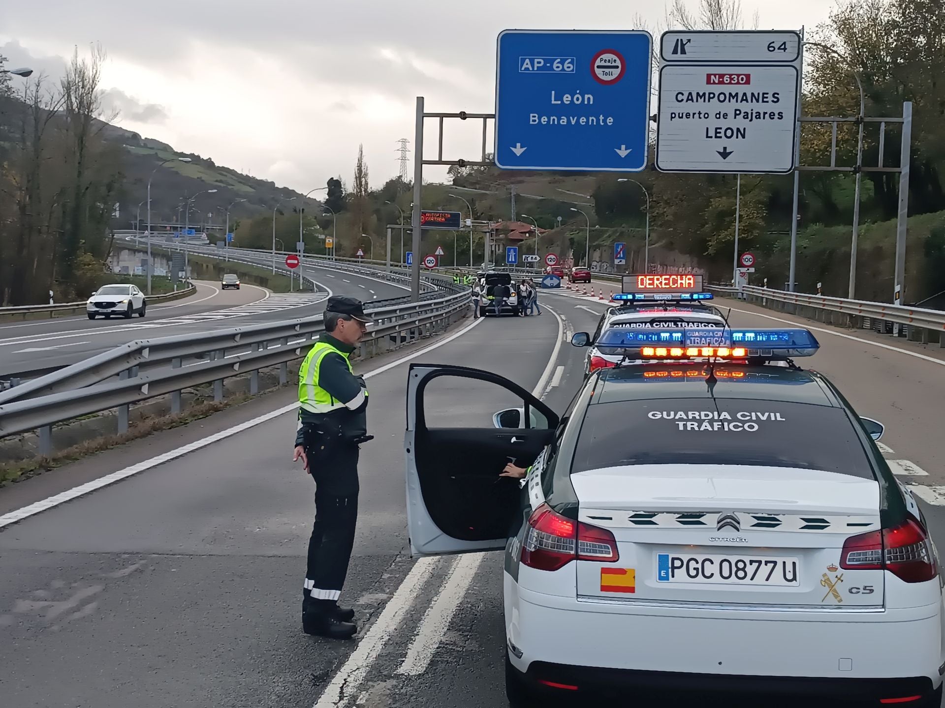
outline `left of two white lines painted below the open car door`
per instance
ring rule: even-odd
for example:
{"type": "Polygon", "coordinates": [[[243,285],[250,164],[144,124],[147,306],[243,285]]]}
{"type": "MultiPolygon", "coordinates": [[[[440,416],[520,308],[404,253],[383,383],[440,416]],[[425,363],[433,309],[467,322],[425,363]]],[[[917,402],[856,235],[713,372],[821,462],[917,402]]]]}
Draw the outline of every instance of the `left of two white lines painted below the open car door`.
{"type": "Polygon", "coordinates": [[[356,695],[358,686],[364,681],[369,667],[377,660],[381,649],[393,636],[394,629],[400,624],[404,613],[410,609],[415,598],[420,595],[423,583],[427,581],[433,569],[438,565],[438,558],[421,558],[416,565],[410,568],[404,582],[397,588],[394,597],[390,598],[384,607],[384,612],[371,625],[364,639],[358,642],[348,660],[338,669],[331,683],[315,702],[313,708],[337,708],[345,696],[351,698],[356,695]]]}

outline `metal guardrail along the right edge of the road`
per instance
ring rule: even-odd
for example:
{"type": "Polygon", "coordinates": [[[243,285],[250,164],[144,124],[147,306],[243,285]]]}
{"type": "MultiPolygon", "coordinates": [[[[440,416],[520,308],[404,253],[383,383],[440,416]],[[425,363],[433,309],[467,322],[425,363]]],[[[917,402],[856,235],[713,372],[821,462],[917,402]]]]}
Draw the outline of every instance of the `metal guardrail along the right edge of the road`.
{"type": "MultiPolygon", "coordinates": [[[[710,290],[727,295],[737,295],[738,290],[729,285],[709,285],[710,290]]],[[[833,314],[839,314],[857,329],[874,329],[883,333],[895,333],[898,328],[886,332],[885,323],[902,325],[906,328],[906,336],[911,330],[919,329],[923,344],[929,342],[929,332],[939,332],[939,346],[945,347],[945,312],[927,310],[924,308],[891,305],[885,302],[870,302],[868,300],[850,300],[844,297],[829,297],[827,295],[807,295],[805,293],[790,293],[785,290],[771,290],[754,285],[746,285],[741,290],[742,295],[749,301],[761,301],[767,307],[774,307],[785,312],[793,312],[801,316],[810,316],[813,319],[825,319],[829,314],[833,324],[833,314]],[[772,303],[769,305],[769,303],[772,303]]]]}

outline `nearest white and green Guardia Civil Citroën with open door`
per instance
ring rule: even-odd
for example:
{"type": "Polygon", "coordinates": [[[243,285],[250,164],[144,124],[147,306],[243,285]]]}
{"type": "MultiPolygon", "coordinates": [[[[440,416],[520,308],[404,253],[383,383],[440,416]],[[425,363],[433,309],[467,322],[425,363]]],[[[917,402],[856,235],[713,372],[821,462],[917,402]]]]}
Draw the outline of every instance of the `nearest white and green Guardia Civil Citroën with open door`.
{"type": "Polygon", "coordinates": [[[510,703],[605,689],[938,706],[936,548],[876,447],[883,426],[797,365],[814,335],[607,343],[648,363],[594,371],[560,415],[488,371],[410,367],[411,552],[505,548],[510,703]],[[430,392],[463,380],[516,405],[448,428],[430,392]],[[509,459],[533,462],[522,491],[497,479],[509,459]]]}

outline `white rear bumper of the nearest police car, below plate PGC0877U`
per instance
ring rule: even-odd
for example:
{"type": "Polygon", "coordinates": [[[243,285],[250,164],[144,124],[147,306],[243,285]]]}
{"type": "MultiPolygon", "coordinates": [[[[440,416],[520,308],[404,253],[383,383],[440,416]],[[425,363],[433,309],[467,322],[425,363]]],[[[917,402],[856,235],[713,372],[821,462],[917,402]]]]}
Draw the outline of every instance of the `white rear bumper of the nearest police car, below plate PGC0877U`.
{"type": "Polygon", "coordinates": [[[940,601],[849,615],[643,608],[506,580],[509,658],[528,683],[879,699],[925,696],[942,683],[940,601]]]}

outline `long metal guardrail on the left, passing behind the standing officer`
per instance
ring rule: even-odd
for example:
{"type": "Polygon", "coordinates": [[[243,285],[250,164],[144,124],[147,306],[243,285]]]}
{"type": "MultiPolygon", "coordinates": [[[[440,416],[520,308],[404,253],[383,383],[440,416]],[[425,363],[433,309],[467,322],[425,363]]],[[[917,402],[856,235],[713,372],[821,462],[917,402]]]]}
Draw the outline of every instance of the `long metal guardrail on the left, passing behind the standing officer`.
{"type": "MultiPolygon", "coordinates": [[[[444,285],[448,295],[419,303],[374,308],[374,324],[362,347],[401,344],[443,329],[469,311],[470,293],[444,285]]],[[[323,331],[322,315],[204,335],[178,335],[131,342],[84,362],[0,393],[0,436],[40,430],[40,453],[51,451],[52,425],[79,416],[118,409],[118,432],[129,427],[129,405],[171,394],[171,413],[180,413],[181,391],[214,384],[223,399],[223,381],[249,373],[249,393],[259,390],[259,370],[280,366],[286,383],[288,362],[301,359],[323,331]],[[196,361],[192,361],[196,360],[196,361]]],[[[363,350],[363,349],[362,349],[363,350]]]]}

